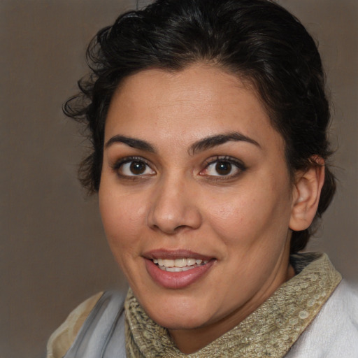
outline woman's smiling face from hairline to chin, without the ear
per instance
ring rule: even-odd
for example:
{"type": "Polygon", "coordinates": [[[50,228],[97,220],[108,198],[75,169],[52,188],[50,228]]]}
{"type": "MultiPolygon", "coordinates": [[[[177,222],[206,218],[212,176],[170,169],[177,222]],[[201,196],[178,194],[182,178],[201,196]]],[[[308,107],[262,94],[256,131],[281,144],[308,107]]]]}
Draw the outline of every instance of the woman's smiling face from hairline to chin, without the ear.
{"type": "Polygon", "coordinates": [[[284,141],[236,76],[199,64],[151,69],[113,96],[103,226],[162,326],[226,331],[287,279],[293,192],[284,141]]]}

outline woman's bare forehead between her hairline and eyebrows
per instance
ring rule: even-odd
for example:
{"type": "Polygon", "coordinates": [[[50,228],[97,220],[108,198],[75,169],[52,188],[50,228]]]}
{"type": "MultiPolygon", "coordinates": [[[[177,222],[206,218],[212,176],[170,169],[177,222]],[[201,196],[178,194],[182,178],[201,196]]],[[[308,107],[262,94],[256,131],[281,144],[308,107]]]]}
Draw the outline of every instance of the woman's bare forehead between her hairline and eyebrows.
{"type": "Polygon", "coordinates": [[[198,64],[126,78],[110,103],[105,141],[122,134],[182,143],[231,131],[263,144],[282,142],[252,87],[215,66],[198,64]]]}

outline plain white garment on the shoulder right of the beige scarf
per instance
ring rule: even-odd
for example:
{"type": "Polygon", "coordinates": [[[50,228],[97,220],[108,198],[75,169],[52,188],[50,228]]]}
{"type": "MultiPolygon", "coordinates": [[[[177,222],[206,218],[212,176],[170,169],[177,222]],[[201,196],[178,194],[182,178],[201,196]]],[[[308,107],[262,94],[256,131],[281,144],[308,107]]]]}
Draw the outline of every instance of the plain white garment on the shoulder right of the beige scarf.
{"type": "Polygon", "coordinates": [[[358,357],[357,288],[344,280],[338,285],[287,354],[287,358],[301,357],[358,357]]]}

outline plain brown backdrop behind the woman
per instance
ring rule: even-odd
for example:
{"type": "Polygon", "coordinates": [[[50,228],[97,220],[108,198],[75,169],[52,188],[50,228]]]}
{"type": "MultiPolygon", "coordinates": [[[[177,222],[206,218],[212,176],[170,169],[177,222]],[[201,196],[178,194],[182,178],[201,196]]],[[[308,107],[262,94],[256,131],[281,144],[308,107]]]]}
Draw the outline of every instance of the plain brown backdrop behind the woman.
{"type": "MultiPolygon", "coordinates": [[[[218,0],[219,1],[219,0],[218,0]]],[[[281,0],[320,43],[334,103],[338,196],[313,250],[358,283],[358,1],[281,0]]],[[[85,46],[133,0],[0,0],[0,357],[42,357],[80,301],[122,282],[96,198],[76,168],[85,150],[62,115],[85,46]]]]}

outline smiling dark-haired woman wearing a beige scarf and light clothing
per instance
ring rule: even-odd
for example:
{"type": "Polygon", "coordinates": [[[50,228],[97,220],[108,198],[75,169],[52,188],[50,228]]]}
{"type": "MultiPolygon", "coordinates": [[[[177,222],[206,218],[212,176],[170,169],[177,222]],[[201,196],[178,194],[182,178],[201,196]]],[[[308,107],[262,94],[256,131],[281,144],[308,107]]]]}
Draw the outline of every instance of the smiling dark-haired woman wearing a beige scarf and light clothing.
{"type": "Polygon", "coordinates": [[[65,111],[90,131],[82,182],[131,289],[83,303],[48,357],[357,357],[357,298],[327,256],[297,255],[335,192],[299,21],[266,0],[158,0],[88,58],[65,111]]]}

